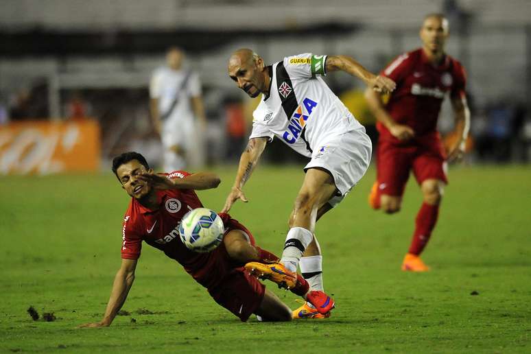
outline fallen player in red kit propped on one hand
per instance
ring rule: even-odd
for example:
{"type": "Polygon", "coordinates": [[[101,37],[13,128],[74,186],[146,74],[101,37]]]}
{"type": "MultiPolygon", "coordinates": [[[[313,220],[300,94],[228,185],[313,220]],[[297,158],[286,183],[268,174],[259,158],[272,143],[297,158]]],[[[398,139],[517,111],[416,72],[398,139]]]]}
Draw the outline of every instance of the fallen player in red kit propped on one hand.
{"type": "MultiPolygon", "coordinates": [[[[123,221],[122,263],[104,318],[81,327],[107,327],[113,322],[134,281],[142,241],[178,261],[193,279],[207,288],[218,304],[242,321],[251,314],[269,321],[291,320],[291,310],[243,268],[248,262],[274,263],[279,258],[255,246],[250,231],[230,215],[220,214],[226,232],[222,244],[215,250],[193,252],[180,241],[180,220],[188,211],[202,207],[194,190],[215,188],[220,178],[208,172],[154,174],[145,158],[136,152],[117,156],[113,160],[113,172],[122,188],[132,197],[123,221]]],[[[270,280],[286,283],[294,294],[317,306],[326,302],[324,293],[308,292],[309,285],[302,276],[286,276],[270,280]]]]}

